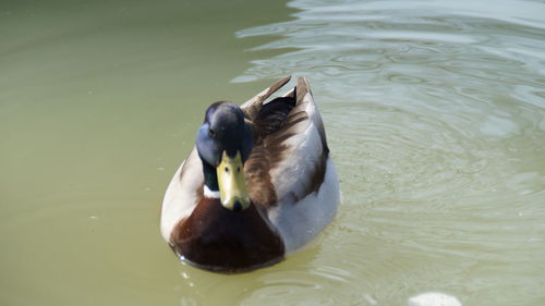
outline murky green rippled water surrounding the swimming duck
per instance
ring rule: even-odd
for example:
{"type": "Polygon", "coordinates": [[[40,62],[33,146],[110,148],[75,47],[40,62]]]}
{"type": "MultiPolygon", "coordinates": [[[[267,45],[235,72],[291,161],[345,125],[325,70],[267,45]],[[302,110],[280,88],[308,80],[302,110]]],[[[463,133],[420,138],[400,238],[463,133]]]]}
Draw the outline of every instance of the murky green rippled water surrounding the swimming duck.
{"type": "Polygon", "coordinates": [[[0,305],[545,305],[543,1],[47,2],[0,3],[0,305]],[[286,74],[336,220],[255,272],[179,262],[159,206],[204,110],[286,74]]]}

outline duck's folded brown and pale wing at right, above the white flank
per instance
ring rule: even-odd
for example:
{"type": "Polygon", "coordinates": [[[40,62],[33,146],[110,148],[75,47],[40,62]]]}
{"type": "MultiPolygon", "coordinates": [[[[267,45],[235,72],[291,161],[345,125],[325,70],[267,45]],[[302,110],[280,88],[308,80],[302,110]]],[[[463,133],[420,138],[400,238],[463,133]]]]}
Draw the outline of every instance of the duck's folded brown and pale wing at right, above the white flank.
{"type": "Polygon", "coordinates": [[[263,106],[253,119],[258,136],[245,166],[251,197],[265,206],[294,205],[317,192],[329,155],[308,81],[299,77],[282,98],[263,106]]]}

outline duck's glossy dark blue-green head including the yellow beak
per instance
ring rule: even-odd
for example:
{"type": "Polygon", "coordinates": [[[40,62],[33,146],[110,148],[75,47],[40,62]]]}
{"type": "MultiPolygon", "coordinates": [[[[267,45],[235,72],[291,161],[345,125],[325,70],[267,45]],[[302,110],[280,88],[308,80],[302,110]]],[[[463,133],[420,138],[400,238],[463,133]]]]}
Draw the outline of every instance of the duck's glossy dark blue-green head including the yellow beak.
{"type": "Polygon", "coordinates": [[[244,182],[244,162],[253,146],[244,113],[231,102],[216,102],[205,113],[197,132],[196,147],[203,161],[205,185],[219,192],[221,205],[233,211],[250,206],[244,182]]]}

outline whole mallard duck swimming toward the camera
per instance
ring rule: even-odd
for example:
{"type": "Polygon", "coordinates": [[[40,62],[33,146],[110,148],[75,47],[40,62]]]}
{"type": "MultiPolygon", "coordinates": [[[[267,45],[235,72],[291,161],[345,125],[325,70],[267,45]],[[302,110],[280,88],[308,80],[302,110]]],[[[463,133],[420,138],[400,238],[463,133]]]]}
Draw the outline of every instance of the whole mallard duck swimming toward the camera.
{"type": "Polygon", "coordinates": [[[290,79],[242,106],[218,101],[205,111],[161,206],[161,235],[183,262],[252,271],[282,261],[332,221],[339,180],[308,79],[267,100],[290,79]]]}

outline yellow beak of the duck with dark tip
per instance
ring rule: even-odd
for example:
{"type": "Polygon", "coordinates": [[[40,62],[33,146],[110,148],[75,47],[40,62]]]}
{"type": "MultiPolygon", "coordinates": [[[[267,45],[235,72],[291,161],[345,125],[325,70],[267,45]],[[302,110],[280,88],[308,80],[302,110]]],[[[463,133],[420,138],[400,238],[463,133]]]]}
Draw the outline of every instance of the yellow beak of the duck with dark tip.
{"type": "Polygon", "coordinates": [[[234,158],[229,157],[223,151],[216,172],[221,205],[229,210],[246,209],[250,206],[250,197],[246,193],[244,167],[240,151],[237,151],[234,158]]]}

